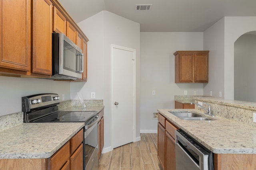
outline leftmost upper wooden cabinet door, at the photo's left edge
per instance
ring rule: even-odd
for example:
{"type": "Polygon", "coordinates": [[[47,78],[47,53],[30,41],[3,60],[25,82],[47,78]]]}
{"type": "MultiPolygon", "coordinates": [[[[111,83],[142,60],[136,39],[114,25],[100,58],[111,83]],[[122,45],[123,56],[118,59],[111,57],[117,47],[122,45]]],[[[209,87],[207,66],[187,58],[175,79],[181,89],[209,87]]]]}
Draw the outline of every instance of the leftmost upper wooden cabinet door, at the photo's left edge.
{"type": "Polygon", "coordinates": [[[1,0],[0,9],[0,67],[29,71],[31,0],[1,0]]]}

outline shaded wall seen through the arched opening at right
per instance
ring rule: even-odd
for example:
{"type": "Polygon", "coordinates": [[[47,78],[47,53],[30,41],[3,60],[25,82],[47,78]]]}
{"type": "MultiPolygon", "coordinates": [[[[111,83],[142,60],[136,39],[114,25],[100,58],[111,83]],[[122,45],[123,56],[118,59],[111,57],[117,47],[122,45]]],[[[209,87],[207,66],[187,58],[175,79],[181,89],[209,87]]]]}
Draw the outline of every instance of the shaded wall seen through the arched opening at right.
{"type": "Polygon", "coordinates": [[[234,100],[256,102],[256,35],[244,34],[234,43],[234,100]]]}

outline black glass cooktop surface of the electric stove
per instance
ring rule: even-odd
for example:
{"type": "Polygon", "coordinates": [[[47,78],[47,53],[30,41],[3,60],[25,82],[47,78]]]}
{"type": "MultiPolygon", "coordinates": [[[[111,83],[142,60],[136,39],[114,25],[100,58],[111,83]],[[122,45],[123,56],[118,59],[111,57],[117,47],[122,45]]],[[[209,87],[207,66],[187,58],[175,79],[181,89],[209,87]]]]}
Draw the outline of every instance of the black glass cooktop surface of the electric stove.
{"type": "Polygon", "coordinates": [[[56,113],[36,119],[32,122],[86,122],[96,114],[97,111],[57,111],[56,113]]]}

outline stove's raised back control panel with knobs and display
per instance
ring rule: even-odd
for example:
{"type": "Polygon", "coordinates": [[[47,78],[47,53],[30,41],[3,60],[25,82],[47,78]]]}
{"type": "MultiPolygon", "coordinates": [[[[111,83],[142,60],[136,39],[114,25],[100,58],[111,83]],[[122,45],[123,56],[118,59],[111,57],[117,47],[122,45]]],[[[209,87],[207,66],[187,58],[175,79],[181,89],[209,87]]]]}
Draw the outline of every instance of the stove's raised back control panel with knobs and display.
{"type": "Polygon", "coordinates": [[[59,104],[60,96],[58,94],[36,94],[22,97],[22,111],[30,112],[45,106],[56,106],[59,104]]]}

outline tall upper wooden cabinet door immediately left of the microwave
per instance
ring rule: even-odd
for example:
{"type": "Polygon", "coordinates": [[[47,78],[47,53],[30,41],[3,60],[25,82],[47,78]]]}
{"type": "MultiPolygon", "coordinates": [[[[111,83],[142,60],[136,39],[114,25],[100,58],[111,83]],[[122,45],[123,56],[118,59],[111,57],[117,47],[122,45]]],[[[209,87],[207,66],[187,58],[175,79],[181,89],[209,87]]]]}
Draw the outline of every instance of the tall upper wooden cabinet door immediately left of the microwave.
{"type": "Polygon", "coordinates": [[[32,72],[52,75],[52,2],[33,0],[32,72]]]}

